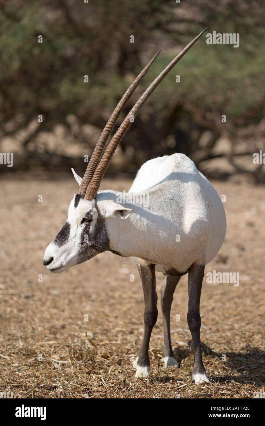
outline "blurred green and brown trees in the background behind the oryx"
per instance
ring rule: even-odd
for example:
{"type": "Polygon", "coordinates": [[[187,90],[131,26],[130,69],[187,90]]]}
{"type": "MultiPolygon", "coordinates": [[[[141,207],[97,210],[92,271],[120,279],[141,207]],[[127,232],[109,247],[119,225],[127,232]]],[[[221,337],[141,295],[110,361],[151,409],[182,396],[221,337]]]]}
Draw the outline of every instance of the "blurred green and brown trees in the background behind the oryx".
{"type": "MultiPolygon", "coordinates": [[[[263,0],[0,0],[1,135],[23,140],[25,161],[28,155],[46,162],[51,150],[43,147],[39,135],[61,124],[66,141],[81,143],[90,152],[97,132],[88,138],[83,124],[102,130],[134,76],[162,48],[120,123],[181,47],[208,26],[211,33],[239,33],[239,48],[208,45],[206,37],[196,43],[123,139],[124,164],[134,172],[148,158],[180,151],[202,167],[203,161],[222,155],[214,147],[225,135],[232,146],[229,161],[236,167],[233,155],[244,135],[249,144],[241,155],[253,153],[265,136],[260,124],[265,105],[264,12],[263,0]],[[248,126],[253,126],[252,135],[239,132],[248,126]]],[[[255,178],[260,181],[263,175],[255,178]]]]}

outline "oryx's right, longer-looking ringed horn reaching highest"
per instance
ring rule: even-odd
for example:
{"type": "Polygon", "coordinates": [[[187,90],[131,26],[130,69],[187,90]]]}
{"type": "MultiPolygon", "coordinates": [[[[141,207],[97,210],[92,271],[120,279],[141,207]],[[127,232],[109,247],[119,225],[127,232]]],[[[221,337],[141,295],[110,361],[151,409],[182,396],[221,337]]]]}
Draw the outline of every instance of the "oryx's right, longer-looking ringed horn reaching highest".
{"type": "Polygon", "coordinates": [[[142,94],[142,96],[138,99],[134,107],[131,109],[131,111],[128,113],[127,117],[123,120],[123,123],[120,125],[119,129],[111,139],[107,149],[105,150],[105,153],[100,161],[100,164],[98,165],[93,178],[91,179],[90,184],[88,185],[88,188],[85,193],[85,199],[92,200],[96,195],[97,191],[100,187],[100,182],[105,174],[105,171],[108,168],[108,164],[111,161],[111,158],[119,145],[120,141],[122,140],[123,136],[127,132],[128,128],[131,125],[131,118],[135,118],[140,109],[142,108],[143,104],[147,101],[149,96],[152,92],[154,92],[154,89],[159,85],[159,83],[163,80],[163,78],[168,74],[168,72],[174,67],[174,65],[182,58],[182,56],[185,55],[186,52],[191,48],[191,46],[194,45],[194,43],[198,40],[199,37],[206,31],[207,28],[205,28],[197,37],[194,38],[177,56],[174,58],[171,63],[168,64],[168,66],[163,69],[163,71],[158,75],[158,77],[150,84],[150,86],[145,90],[145,92],[142,94]]]}

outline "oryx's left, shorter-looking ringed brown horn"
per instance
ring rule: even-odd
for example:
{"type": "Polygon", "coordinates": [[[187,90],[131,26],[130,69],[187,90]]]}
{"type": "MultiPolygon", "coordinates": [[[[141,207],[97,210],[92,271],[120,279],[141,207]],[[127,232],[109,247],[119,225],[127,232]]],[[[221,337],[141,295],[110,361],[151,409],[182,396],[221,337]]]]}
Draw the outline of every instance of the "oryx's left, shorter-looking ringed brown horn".
{"type": "Polygon", "coordinates": [[[123,111],[123,108],[127,104],[128,100],[131,98],[131,95],[133,94],[134,90],[137,88],[139,83],[144,78],[146,72],[154,62],[154,60],[159,55],[160,51],[157,52],[154,57],[148,62],[148,64],[145,66],[145,68],[140,72],[138,77],[131,83],[131,86],[128,87],[126,92],[124,93],[123,97],[120,99],[120,102],[118,103],[117,107],[114,109],[114,111],[111,114],[111,117],[108,120],[108,123],[105,125],[103,132],[100,135],[99,140],[97,141],[96,147],[94,148],[93,154],[91,155],[90,161],[88,163],[88,166],[85,170],[85,174],[83,176],[82,182],[80,184],[79,193],[85,194],[85,191],[88,187],[89,182],[91,181],[94,172],[97,168],[97,165],[100,161],[101,155],[103,153],[105,144],[108,140],[108,136],[112,132],[117,119],[119,118],[121,112],[123,111]]]}

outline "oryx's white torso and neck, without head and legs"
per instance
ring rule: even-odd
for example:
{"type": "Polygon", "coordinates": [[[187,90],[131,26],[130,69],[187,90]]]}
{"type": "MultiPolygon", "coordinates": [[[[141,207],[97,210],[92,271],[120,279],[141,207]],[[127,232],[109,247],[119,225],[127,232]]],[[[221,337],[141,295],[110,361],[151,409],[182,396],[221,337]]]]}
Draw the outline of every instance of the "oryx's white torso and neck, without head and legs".
{"type": "MultiPolygon", "coordinates": [[[[115,202],[119,193],[111,193],[115,202]]],[[[97,194],[103,216],[105,203],[109,202],[106,197],[111,193],[97,194]]],[[[147,259],[166,270],[175,268],[180,273],[193,262],[206,264],[216,256],[226,229],[222,201],[186,155],[165,155],[147,161],[128,193],[137,193],[134,199],[148,199],[149,203],[124,204],[132,213],[121,223],[118,218],[106,220],[112,250],[122,256],[147,259]]]]}

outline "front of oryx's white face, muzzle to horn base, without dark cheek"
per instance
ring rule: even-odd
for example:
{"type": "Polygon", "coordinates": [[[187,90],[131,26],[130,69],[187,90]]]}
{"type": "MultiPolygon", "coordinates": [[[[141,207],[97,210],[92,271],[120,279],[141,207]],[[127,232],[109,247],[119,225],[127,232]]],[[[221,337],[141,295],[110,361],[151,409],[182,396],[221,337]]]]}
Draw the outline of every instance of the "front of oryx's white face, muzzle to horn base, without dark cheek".
{"type": "Polygon", "coordinates": [[[76,199],[75,194],[68,208],[66,225],[46,248],[43,265],[49,271],[58,273],[85,261],[86,259],[80,254],[80,249],[84,247],[84,242],[86,248],[90,245],[90,235],[95,230],[97,218],[95,200],[88,201],[80,196],[76,199]],[[75,201],[78,201],[76,207],[74,207],[75,201]],[[85,217],[91,218],[92,221],[83,222],[85,217]]]}

